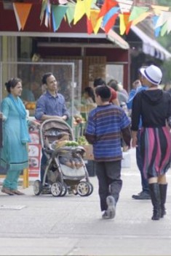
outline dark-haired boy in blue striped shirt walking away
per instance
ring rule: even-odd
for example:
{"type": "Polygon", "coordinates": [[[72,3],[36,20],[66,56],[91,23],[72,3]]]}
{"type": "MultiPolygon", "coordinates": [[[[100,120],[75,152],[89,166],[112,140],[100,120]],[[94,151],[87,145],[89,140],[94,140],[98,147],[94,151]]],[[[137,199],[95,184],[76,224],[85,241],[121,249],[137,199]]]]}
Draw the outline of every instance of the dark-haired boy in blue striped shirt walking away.
{"type": "Polygon", "coordinates": [[[113,219],[122,189],[121,134],[130,146],[130,119],[122,108],[109,102],[108,86],[97,86],[95,99],[98,107],[90,111],[85,137],[93,146],[102,217],[113,219]]]}

